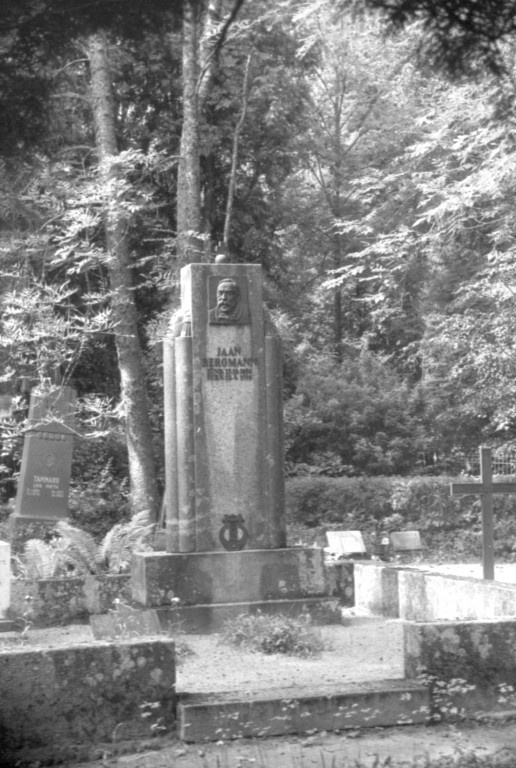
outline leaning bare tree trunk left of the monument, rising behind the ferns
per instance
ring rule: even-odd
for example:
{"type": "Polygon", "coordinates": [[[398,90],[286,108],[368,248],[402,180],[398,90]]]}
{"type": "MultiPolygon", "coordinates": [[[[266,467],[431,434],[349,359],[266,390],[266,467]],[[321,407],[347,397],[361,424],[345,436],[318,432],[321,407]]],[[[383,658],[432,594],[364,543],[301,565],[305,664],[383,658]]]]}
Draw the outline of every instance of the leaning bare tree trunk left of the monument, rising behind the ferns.
{"type": "Polygon", "coordinates": [[[91,103],[101,177],[111,189],[106,202],[105,233],[115,342],[120,370],[121,398],[125,416],[133,513],[148,510],[153,518],[159,509],[152,432],[147,405],[142,351],[131,280],[128,221],[117,205],[115,104],[112,93],[107,43],[102,33],[89,38],[91,103]]]}

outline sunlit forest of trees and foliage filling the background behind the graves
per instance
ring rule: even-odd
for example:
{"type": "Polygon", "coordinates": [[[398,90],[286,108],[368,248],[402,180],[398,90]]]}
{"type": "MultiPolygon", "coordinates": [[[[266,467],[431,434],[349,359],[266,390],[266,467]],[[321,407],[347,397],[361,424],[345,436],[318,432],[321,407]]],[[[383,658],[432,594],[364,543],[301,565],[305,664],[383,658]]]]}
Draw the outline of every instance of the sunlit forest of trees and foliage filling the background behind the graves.
{"type": "Polygon", "coordinates": [[[400,477],[406,489],[470,470],[481,444],[515,446],[514,36],[494,58],[477,36],[443,64],[424,15],[386,34],[366,5],[7,3],[4,500],[29,391],[68,383],[79,518],[158,514],[161,339],[180,267],[219,251],[264,270],[304,522],[320,521],[325,478],[352,478],[347,511],[368,496],[385,527],[408,504],[400,477]]]}

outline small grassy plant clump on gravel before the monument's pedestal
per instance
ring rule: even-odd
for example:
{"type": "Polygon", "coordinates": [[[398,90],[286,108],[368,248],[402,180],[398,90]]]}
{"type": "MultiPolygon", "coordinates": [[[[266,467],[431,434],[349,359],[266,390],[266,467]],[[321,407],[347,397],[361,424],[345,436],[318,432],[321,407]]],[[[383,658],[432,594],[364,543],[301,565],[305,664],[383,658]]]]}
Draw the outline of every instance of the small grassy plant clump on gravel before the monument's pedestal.
{"type": "Polygon", "coordinates": [[[324,650],[324,640],[310,617],[282,614],[242,614],[227,621],[222,640],[238,648],[259,653],[285,653],[307,658],[324,650]]]}

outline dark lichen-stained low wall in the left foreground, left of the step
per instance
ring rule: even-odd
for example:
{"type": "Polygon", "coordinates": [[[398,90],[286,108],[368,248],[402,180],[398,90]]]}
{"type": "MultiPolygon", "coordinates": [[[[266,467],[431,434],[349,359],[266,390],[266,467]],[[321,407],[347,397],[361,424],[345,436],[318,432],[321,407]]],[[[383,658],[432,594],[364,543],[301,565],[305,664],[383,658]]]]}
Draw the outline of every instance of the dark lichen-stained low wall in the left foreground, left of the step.
{"type": "Polygon", "coordinates": [[[66,756],[71,744],[152,735],[170,728],[175,711],[170,640],[27,646],[0,651],[0,765],[20,750],[66,756]],[[146,718],[145,703],[155,704],[146,718]]]}

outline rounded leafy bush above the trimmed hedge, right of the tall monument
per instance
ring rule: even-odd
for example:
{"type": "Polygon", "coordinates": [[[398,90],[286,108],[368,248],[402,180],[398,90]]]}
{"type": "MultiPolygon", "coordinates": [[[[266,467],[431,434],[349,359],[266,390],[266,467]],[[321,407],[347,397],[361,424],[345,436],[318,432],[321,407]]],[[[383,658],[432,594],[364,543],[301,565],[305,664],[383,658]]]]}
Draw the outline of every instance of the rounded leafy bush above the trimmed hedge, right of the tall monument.
{"type": "Polygon", "coordinates": [[[290,475],[380,476],[421,471],[432,449],[425,404],[378,355],[301,366],[285,404],[290,475]]]}

